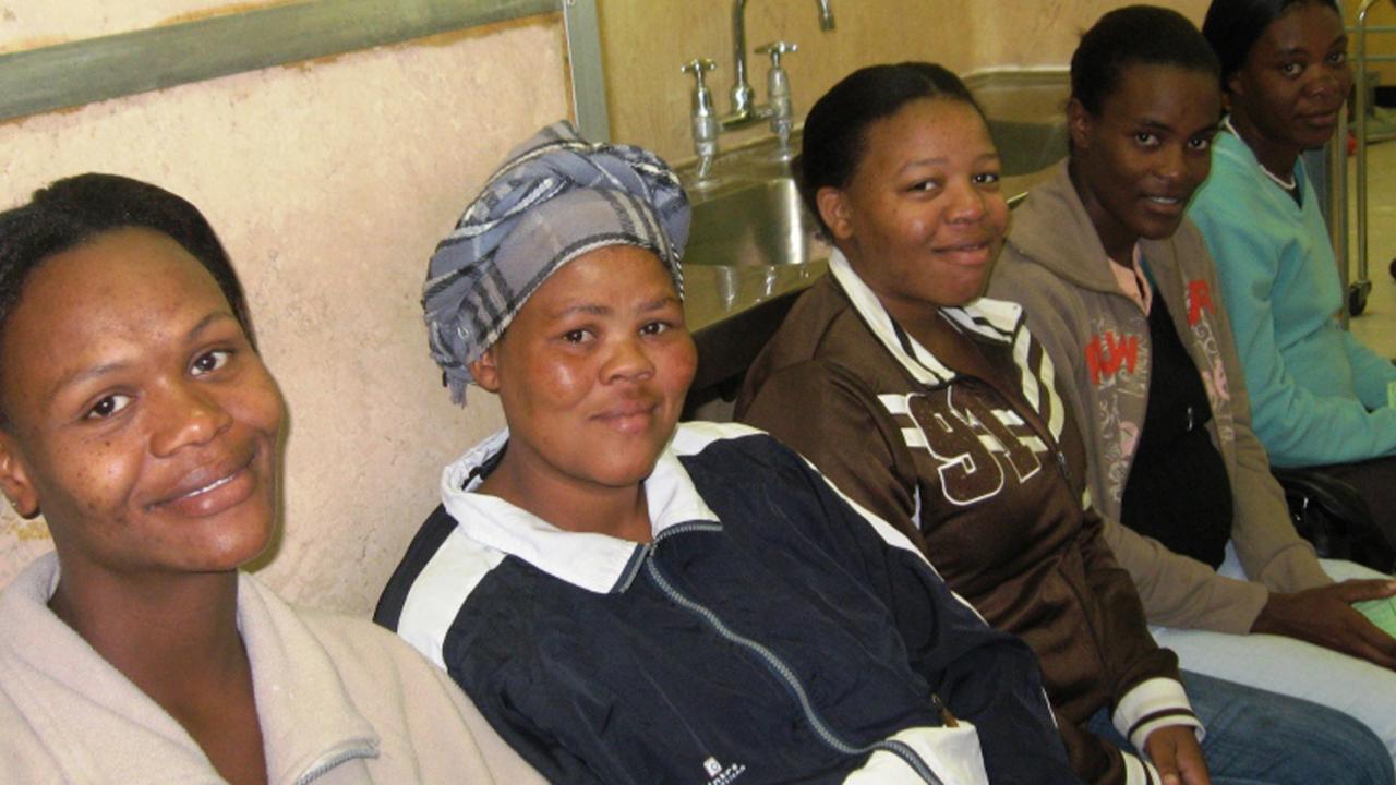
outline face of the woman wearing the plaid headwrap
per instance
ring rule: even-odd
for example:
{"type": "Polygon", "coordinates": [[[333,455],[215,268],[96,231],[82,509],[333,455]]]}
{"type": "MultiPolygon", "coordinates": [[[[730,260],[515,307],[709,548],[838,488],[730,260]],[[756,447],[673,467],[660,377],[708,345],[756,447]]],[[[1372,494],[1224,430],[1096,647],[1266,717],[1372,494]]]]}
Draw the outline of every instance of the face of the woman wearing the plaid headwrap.
{"type": "Polygon", "coordinates": [[[568,493],[649,476],[697,365],[659,257],[606,246],[544,281],[470,373],[510,425],[500,469],[530,493],[568,493]]]}

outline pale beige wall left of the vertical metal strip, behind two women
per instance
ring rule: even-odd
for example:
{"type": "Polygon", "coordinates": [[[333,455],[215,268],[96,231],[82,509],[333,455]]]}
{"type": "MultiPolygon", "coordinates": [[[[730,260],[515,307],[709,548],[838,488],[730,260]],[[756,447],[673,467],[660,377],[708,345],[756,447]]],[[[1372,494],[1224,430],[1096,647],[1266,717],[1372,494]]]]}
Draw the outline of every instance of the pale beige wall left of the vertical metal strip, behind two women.
{"type": "MultiPolygon", "coordinates": [[[[0,47],[211,3],[66,0],[78,34],[20,29],[50,6],[0,0],[0,47]]],[[[0,205],[106,170],[188,197],[219,230],[290,408],[285,534],[262,570],[288,596],[370,610],[444,462],[501,425],[487,395],[450,404],[417,298],[490,169],[568,113],[564,57],[560,20],[536,18],[0,124],[0,205]]],[[[6,510],[0,584],[49,548],[6,510]]]]}

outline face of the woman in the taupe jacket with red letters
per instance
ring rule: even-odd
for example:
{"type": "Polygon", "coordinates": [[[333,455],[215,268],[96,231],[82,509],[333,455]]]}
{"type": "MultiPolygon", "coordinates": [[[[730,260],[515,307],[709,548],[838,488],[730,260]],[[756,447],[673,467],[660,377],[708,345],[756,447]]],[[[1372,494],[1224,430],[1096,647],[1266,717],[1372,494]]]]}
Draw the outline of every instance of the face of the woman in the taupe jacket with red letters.
{"type": "Polygon", "coordinates": [[[1136,240],[1178,230],[1220,115],[1216,77],[1178,66],[1127,66],[1099,116],[1071,102],[1072,183],[1110,258],[1128,265],[1136,240]]]}

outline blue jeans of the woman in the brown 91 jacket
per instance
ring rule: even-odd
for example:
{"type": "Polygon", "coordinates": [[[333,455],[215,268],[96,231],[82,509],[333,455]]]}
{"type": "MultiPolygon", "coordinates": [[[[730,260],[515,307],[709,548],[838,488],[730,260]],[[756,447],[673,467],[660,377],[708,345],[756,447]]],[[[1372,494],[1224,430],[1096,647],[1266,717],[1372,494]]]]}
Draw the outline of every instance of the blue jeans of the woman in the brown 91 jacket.
{"type": "MultiPolygon", "coordinates": [[[[1390,785],[1386,746],[1351,717],[1255,687],[1182,672],[1192,711],[1206,728],[1202,754],[1215,785],[1390,785]]],[[[1086,724],[1139,754],[1103,708],[1086,724]]]]}

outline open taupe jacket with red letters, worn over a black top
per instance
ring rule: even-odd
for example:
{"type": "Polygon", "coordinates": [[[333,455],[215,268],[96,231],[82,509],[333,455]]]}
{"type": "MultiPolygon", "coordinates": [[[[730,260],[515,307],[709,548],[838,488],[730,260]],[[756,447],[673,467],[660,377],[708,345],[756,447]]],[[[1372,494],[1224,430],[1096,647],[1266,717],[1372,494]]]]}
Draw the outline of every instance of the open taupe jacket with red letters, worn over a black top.
{"type": "Polygon", "coordinates": [[[1184,221],[1173,237],[1141,240],[1139,250],[1156,281],[1154,296],[1168,305],[1206,384],[1213,415],[1208,429],[1226,462],[1235,507],[1231,541],[1252,582],[1223,578],[1115,522],[1148,406],[1149,321],[1120,292],[1065,162],[1013,211],[990,295],[1023,305],[1029,328],[1062,374],[1062,395],[1086,437],[1090,493],[1107,518],[1106,538],[1134,577],[1149,620],[1248,633],[1270,591],[1332,581],[1314,548],[1294,532],[1265,447],[1251,430],[1235,339],[1202,236],[1184,221]]]}

